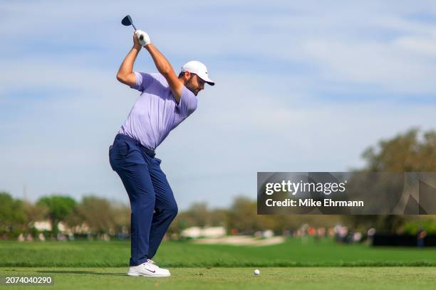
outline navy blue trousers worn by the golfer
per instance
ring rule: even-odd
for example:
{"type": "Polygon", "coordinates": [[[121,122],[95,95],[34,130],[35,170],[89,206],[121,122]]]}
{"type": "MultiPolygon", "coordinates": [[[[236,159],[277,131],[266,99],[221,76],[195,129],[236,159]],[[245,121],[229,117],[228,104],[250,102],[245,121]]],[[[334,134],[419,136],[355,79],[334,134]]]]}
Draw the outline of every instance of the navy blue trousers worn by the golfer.
{"type": "Polygon", "coordinates": [[[172,220],[177,203],[160,159],[135,139],[118,134],[109,149],[109,161],[129,195],[131,215],[130,266],[152,259],[172,220]]]}

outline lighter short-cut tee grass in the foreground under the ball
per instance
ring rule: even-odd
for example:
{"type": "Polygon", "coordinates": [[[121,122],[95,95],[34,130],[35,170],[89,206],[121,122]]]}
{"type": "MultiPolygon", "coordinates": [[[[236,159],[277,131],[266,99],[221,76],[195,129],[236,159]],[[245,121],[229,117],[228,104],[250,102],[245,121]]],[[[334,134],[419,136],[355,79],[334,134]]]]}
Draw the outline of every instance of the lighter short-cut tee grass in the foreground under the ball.
{"type": "Polygon", "coordinates": [[[170,278],[125,276],[124,268],[0,268],[0,276],[52,276],[54,286],[13,289],[433,289],[435,268],[175,268],[170,278]]]}

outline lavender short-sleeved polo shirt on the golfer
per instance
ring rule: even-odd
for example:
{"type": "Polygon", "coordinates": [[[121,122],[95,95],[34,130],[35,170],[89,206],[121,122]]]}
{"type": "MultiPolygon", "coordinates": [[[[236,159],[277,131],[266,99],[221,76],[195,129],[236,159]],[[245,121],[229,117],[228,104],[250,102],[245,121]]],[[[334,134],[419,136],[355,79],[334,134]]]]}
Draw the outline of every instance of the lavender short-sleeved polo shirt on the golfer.
{"type": "Polygon", "coordinates": [[[125,134],[148,149],[155,150],[170,131],[197,109],[197,97],[183,86],[180,102],[172,96],[167,80],[160,73],[136,73],[141,92],[118,133],[125,134]]]}

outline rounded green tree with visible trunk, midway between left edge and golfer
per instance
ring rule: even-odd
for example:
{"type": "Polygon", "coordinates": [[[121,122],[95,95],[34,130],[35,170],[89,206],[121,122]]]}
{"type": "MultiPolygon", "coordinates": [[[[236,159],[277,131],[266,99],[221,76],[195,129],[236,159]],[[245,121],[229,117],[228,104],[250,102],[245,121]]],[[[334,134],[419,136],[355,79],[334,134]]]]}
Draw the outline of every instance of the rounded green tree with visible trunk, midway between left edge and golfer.
{"type": "Polygon", "coordinates": [[[76,200],[69,196],[51,195],[40,198],[36,205],[45,205],[48,208],[46,218],[50,219],[52,231],[56,235],[58,223],[65,221],[73,212],[76,208],[76,200]]]}

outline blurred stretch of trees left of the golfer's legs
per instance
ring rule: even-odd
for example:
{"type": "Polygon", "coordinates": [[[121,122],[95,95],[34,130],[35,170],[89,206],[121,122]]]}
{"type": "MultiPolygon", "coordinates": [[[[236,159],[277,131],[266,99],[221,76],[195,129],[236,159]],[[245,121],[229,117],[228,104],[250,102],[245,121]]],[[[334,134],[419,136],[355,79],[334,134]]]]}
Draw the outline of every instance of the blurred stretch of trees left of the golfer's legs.
{"type": "Polygon", "coordinates": [[[80,202],[66,195],[48,195],[31,203],[0,192],[0,237],[38,232],[56,237],[59,222],[76,234],[126,233],[130,227],[130,208],[94,195],[85,196],[80,202]],[[35,222],[44,220],[50,222],[51,230],[36,229],[35,222]]]}

